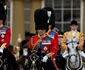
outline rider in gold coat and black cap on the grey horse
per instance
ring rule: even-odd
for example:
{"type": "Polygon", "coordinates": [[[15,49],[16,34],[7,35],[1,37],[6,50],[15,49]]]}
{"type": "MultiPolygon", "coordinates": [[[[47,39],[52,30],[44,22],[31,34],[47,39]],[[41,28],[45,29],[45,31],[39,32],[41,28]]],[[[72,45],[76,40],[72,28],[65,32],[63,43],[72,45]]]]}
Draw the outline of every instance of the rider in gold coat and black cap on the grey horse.
{"type": "Polygon", "coordinates": [[[82,57],[85,57],[85,54],[82,51],[83,44],[84,44],[84,35],[83,33],[77,30],[78,29],[77,21],[73,20],[70,24],[70,27],[71,27],[71,31],[65,32],[62,40],[62,49],[64,50],[63,57],[66,58],[68,56],[67,45],[66,45],[68,43],[67,38],[74,40],[74,42],[77,42],[79,54],[82,57]]]}

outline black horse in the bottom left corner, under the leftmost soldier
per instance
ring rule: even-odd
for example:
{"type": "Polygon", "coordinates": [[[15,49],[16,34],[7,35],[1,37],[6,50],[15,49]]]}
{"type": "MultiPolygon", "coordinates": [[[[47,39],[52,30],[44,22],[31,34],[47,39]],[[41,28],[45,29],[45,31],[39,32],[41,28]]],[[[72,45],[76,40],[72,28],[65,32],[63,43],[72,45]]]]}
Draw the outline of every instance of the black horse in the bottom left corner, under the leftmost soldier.
{"type": "Polygon", "coordinates": [[[18,70],[16,60],[7,48],[0,52],[0,70],[18,70]]]}

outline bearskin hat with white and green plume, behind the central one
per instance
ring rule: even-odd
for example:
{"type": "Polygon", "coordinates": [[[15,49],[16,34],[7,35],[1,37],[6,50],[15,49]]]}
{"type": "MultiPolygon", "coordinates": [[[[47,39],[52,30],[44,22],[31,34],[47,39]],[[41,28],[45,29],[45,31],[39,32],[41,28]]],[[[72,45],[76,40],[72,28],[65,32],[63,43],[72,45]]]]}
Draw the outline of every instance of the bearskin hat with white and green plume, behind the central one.
{"type": "Polygon", "coordinates": [[[49,25],[52,25],[52,28],[54,28],[55,26],[55,13],[54,13],[54,10],[50,7],[45,7],[43,8],[45,10],[47,10],[47,13],[48,13],[48,24],[49,25]]]}

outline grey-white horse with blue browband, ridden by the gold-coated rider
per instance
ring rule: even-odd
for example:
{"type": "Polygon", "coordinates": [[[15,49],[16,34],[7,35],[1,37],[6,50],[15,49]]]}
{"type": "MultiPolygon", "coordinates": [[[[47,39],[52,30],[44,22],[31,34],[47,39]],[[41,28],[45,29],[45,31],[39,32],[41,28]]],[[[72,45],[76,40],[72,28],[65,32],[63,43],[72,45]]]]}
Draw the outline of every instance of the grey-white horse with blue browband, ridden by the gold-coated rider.
{"type": "Polygon", "coordinates": [[[66,70],[85,70],[82,64],[82,57],[79,54],[77,38],[69,39],[67,38],[67,60],[66,60],[66,70]]]}

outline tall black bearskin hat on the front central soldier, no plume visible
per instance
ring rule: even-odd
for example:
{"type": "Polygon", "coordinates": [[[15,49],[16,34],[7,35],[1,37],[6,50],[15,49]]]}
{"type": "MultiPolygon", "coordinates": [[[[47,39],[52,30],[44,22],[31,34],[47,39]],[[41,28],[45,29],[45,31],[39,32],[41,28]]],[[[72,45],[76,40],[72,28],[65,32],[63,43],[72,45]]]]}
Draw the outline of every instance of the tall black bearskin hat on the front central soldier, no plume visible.
{"type": "Polygon", "coordinates": [[[45,9],[37,9],[34,13],[35,30],[48,30],[48,15],[45,9]]]}

